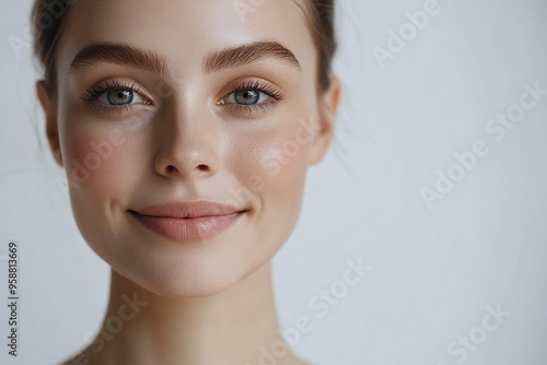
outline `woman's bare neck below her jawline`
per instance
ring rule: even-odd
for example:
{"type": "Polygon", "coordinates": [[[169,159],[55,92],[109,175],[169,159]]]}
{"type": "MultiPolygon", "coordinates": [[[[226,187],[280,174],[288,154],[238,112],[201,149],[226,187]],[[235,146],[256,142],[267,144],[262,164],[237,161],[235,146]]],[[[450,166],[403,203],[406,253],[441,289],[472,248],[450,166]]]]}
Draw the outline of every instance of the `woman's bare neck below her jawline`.
{"type": "MultiPolygon", "coordinates": [[[[89,364],[255,365],[264,349],[286,343],[278,329],[271,261],[222,293],[190,298],[160,296],[113,270],[102,332],[84,353],[89,364]]],[[[276,364],[301,361],[289,352],[276,364]]]]}

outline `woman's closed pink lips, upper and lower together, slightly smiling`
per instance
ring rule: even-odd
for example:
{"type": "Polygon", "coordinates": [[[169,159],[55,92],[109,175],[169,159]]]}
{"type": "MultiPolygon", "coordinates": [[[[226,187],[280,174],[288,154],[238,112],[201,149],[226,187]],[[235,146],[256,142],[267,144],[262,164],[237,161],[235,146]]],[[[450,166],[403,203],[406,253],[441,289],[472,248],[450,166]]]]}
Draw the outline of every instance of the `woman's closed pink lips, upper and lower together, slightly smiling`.
{"type": "Polygon", "coordinates": [[[174,242],[190,243],[217,236],[245,210],[208,200],[170,202],[130,210],[149,229],[174,242]]]}

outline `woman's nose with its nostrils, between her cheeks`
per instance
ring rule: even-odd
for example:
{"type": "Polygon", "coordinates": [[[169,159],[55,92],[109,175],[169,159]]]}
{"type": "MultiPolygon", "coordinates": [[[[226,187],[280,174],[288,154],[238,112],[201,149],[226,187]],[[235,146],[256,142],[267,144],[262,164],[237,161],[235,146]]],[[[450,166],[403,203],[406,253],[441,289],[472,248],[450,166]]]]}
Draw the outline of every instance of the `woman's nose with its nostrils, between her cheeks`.
{"type": "Polygon", "coordinates": [[[220,166],[222,126],[207,110],[172,111],[156,126],[155,173],[164,177],[206,177],[220,166]]]}

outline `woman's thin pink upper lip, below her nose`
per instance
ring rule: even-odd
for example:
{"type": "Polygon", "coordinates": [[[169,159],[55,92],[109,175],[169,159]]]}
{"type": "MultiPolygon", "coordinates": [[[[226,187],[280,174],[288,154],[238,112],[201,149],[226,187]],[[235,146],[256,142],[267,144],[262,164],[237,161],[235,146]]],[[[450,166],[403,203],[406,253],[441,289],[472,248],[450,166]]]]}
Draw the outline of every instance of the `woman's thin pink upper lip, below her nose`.
{"type": "Polygon", "coordinates": [[[243,211],[237,207],[216,202],[212,200],[191,200],[191,201],[172,201],[166,203],[153,204],[131,212],[140,215],[164,216],[164,217],[199,217],[229,215],[243,211]]]}

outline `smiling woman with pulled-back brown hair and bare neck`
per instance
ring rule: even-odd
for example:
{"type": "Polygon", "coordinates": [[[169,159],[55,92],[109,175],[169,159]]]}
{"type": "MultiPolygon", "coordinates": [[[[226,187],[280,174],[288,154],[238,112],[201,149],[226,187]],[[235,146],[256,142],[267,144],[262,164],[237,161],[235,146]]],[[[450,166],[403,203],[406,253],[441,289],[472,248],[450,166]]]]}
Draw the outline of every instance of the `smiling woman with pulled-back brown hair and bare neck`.
{"type": "Polygon", "coordinates": [[[333,5],[36,1],[50,149],[112,267],[103,329],[65,364],[306,364],[271,259],[334,132],[333,5]]]}

